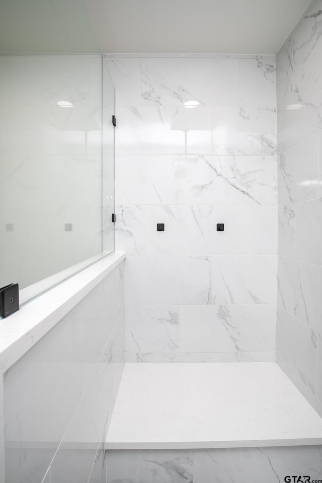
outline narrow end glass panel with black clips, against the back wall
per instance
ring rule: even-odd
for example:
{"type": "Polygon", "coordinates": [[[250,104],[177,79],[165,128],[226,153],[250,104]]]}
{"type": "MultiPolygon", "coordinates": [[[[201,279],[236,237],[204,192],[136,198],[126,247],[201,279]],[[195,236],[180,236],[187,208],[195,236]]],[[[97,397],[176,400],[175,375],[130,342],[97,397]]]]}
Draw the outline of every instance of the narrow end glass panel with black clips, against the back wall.
{"type": "Polygon", "coordinates": [[[115,89],[105,59],[103,58],[103,252],[114,250],[115,212],[115,127],[112,117],[115,114],[115,89]]]}

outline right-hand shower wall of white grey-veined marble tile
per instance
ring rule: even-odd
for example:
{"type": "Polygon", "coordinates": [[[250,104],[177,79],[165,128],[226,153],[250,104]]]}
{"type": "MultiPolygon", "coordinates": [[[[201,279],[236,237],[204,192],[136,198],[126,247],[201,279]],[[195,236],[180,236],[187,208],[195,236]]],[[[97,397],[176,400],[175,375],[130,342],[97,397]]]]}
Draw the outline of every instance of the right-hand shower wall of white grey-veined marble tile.
{"type": "Polygon", "coordinates": [[[279,257],[276,359],[320,414],[321,55],[322,2],[318,0],[277,56],[279,257]],[[302,108],[287,109],[294,103],[292,96],[297,96],[302,108]]]}

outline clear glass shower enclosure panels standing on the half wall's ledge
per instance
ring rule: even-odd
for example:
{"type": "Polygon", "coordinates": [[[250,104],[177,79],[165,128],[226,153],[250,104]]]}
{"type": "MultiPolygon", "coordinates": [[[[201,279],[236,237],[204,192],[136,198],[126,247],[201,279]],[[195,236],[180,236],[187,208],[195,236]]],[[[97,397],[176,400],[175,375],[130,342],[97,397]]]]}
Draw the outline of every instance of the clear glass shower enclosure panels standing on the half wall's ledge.
{"type": "Polygon", "coordinates": [[[22,289],[114,250],[115,93],[102,55],[1,56],[0,71],[0,287],[22,289]]]}

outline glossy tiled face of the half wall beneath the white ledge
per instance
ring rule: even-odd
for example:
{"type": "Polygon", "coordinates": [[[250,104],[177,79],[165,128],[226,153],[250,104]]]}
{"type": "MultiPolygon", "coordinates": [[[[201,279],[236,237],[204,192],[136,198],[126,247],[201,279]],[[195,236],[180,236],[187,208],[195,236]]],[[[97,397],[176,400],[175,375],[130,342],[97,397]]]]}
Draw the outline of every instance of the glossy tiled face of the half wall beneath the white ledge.
{"type": "Polygon", "coordinates": [[[123,367],[124,262],[5,373],[6,483],[101,482],[123,367]]]}

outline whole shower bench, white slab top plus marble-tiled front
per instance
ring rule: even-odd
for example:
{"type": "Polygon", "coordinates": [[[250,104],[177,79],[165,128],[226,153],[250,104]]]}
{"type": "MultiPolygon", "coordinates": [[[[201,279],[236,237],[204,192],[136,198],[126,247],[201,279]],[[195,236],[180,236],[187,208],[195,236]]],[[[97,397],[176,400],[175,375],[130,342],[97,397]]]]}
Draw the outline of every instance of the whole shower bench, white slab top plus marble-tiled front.
{"type": "Polygon", "coordinates": [[[322,480],[322,419],[274,362],[125,364],[106,449],[108,483],[322,480]]]}

